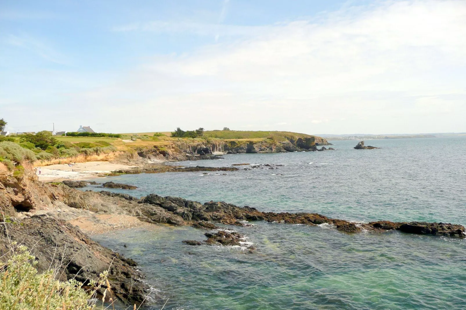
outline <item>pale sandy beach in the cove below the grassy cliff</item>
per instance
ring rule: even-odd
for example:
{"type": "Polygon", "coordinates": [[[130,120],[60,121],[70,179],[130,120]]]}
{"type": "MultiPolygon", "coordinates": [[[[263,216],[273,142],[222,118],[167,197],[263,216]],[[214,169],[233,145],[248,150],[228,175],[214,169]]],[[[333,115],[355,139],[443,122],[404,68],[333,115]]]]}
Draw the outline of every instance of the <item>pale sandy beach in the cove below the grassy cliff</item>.
{"type": "Polygon", "coordinates": [[[122,164],[114,164],[110,162],[77,162],[73,166],[68,164],[50,165],[41,168],[36,168],[36,174],[40,181],[63,181],[63,180],[88,180],[92,178],[102,177],[105,173],[110,173],[114,170],[128,169],[137,166],[128,166],[122,164]]]}

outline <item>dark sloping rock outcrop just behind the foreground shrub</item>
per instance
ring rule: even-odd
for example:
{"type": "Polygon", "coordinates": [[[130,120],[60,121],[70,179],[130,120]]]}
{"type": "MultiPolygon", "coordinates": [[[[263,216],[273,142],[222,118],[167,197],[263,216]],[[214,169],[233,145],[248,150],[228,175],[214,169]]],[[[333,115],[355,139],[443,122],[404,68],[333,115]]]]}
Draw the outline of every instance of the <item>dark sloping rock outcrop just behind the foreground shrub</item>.
{"type": "MultiPolygon", "coordinates": [[[[3,261],[8,258],[10,241],[16,241],[31,249],[38,271],[58,266],[59,280],[75,278],[84,283],[86,289],[91,279],[109,270],[113,296],[121,301],[142,303],[149,293],[147,285],[140,281],[144,275],[135,268],[137,264],[132,259],[99,245],[64,221],[31,217],[3,224],[0,226],[0,259],[3,261]]],[[[104,285],[97,292],[100,298],[106,288],[104,285]]]]}

